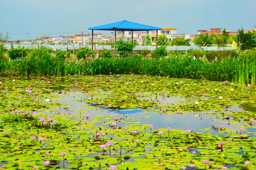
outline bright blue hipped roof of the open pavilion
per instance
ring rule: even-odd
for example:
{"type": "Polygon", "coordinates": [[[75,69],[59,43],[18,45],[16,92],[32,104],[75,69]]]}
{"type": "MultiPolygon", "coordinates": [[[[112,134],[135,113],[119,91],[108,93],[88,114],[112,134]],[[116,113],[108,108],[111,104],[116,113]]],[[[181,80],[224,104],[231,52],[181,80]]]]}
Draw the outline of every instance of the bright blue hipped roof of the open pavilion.
{"type": "Polygon", "coordinates": [[[130,22],[127,20],[122,20],[119,22],[114,22],[102,26],[94,26],[88,28],[89,30],[116,30],[116,31],[146,31],[146,30],[161,30],[162,28],[155,26],[147,26],[143,24],[138,24],[135,22],[130,22]]]}

